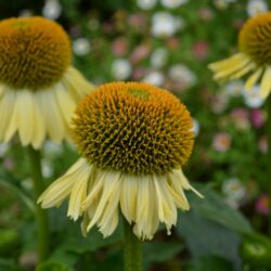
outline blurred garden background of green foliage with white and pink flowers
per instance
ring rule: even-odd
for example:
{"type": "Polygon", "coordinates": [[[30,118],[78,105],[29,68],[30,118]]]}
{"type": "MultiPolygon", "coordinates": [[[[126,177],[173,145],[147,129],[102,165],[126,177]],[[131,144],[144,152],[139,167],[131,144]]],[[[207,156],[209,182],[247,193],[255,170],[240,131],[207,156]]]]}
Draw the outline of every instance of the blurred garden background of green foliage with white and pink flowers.
{"type": "MultiPolygon", "coordinates": [[[[180,214],[172,234],[162,227],[144,244],[145,270],[270,270],[264,101],[258,87],[218,85],[207,68],[235,52],[243,23],[269,8],[267,0],[0,0],[1,20],[57,21],[70,35],[75,66],[93,83],[150,82],[191,111],[196,143],[184,171],[205,199],[189,193],[192,211],[180,214]]],[[[43,151],[48,184],[78,157],[70,143],[47,142],[43,151]]],[[[0,270],[34,270],[29,166],[16,139],[0,144],[0,162],[10,182],[0,181],[0,270]]],[[[109,238],[96,230],[82,238],[65,211],[50,210],[51,259],[62,262],[55,270],[121,271],[121,229],[109,238]]]]}

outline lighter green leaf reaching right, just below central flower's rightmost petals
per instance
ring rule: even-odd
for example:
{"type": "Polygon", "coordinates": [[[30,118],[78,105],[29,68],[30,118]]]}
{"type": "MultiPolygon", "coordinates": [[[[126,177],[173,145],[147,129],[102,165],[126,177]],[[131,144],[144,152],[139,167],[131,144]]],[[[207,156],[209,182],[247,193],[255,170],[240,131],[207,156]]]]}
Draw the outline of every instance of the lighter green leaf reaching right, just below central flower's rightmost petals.
{"type": "Polygon", "coordinates": [[[253,231],[248,220],[240,211],[227,205],[218,193],[209,188],[199,190],[204,198],[195,195],[190,197],[191,209],[196,214],[240,233],[253,231]]]}

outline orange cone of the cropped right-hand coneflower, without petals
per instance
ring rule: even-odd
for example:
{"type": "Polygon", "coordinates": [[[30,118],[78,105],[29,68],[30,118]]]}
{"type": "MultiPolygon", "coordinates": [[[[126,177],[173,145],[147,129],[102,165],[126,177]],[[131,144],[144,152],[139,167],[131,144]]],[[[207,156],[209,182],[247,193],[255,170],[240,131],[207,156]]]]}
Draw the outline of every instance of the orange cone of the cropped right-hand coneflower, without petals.
{"type": "Polygon", "coordinates": [[[271,64],[271,13],[248,20],[238,37],[240,50],[258,65],[271,64]]]}

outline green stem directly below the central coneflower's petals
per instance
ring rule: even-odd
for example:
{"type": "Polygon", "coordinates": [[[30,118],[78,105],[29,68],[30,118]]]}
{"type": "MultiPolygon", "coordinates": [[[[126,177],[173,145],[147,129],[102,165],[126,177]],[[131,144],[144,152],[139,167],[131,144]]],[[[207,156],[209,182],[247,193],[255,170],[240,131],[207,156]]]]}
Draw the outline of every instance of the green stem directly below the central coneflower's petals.
{"type": "Polygon", "coordinates": [[[132,225],[124,218],[124,260],[125,271],[142,271],[142,244],[133,234],[132,225]]]}

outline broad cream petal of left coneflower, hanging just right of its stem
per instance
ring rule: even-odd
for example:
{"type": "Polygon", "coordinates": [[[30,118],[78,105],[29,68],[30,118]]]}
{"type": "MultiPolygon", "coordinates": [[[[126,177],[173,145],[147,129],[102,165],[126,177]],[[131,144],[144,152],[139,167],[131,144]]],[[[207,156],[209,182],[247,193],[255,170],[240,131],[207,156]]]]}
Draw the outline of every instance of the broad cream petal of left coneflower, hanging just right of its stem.
{"type": "Polygon", "coordinates": [[[54,89],[40,90],[37,92],[37,101],[41,108],[47,131],[55,142],[61,142],[65,137],[65,122],[54,98],[54,89]]]}

